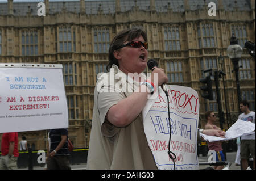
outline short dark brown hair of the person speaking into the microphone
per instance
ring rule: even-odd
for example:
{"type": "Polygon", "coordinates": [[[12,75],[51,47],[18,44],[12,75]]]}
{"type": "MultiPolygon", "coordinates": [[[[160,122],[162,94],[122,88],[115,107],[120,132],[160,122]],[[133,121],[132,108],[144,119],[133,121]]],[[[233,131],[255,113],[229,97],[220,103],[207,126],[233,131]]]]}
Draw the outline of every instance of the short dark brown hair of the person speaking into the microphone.
{"type": "Polygon", "coordinates": [[[106,66],[107,71],[111,68],[113,64],[117,65],[118,60],[114,57],[114,51],[118,50],[119,47],[125,43],[125,41],[131,41],[134,40],[135,38],[142,36],[145,41],[147,41],[147,34],[140,28],[131,28],[131,29],[126,29],[122,30],[115,35],[114,39],[109,45],[109,62],[108,65],[106,66]]]}

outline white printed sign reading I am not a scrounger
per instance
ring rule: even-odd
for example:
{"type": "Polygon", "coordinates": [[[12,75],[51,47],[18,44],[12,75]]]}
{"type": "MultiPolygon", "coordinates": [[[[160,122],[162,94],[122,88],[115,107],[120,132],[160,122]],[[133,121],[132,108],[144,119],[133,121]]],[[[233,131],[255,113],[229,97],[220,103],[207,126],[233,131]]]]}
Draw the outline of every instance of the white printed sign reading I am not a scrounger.
{"type": "Polygon", "coordinates": [[[62,65],[6,66],[0,64],[0,133],[68,128],[62,65]]]}

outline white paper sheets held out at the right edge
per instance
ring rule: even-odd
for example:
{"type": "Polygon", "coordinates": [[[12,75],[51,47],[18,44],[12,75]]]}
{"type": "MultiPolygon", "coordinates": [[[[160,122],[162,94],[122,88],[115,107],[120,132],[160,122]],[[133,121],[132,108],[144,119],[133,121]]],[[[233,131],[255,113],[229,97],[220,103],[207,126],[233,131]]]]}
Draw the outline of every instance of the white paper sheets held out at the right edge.
{"type": "Polygon", "coordinates": [[[250,121],[243,121],[238,119],[236,123],[230,127],[225,134],[225,138],[217,137],[217,136],[208,136],[206,134],[201,133],[200,136],[209,142],[213,141],[226,141],[226,140],[233,140],[234,138],[240,137],[246,134],[255,134],[253,132],[255,130],[255,124],[251,123],[250,121]]]}

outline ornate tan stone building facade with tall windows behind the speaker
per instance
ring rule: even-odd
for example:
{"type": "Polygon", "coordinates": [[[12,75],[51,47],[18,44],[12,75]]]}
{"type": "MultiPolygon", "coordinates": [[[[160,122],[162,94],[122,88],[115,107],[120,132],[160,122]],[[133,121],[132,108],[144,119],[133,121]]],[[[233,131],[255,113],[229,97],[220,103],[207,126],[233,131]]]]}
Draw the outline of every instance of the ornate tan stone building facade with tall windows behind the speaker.
{"type": "MultiPolygon", "coordinates": [[[[199,93],[201,127],[205,111],[218,114],[214,83],[213,100],[201,96],[199,79],[210,68],[226,73],[219,87],[224,128],[237,120],[236,78],[226,49],[232,33],[241,47],[247,40],[255,43],[255,0],[0,1],[0,63],[62,64],[69,138],[75,148],[88,148],[97,74],[106,71],[113,37],[133,27],[147,32],[148,59],[158,61],[168,84],[199,93]],[[45,16],[38,15],[39,2],[44,2],[45,16]],[[208,14],[210,2],[216,16],[208,14]]],[[[241,98],[255,111],[255,60],[246,49],[240,65],[241,98]]],[[[33,149],[46,149],[47,131],[21,136],[33,149]]]]}

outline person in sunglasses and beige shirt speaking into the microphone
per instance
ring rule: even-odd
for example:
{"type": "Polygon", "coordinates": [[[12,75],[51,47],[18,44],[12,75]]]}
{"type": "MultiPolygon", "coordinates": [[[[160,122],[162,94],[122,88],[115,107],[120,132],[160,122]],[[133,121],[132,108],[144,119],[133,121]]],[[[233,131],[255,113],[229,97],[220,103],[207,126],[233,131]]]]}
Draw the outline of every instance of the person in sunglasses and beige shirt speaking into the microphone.
{"type": "Polygon", "coordinates": [[[142,110],[148,95],[168,78],[160,68],[148,78],[142,74],[147,49],[147,35],[140,28],[122,30],[110,43],[109,72],[104,74],[108,81],[98,78],[94,90],[87,169],[158,169],[144,133],[142,110]],[[111,73],[126,79],[120,84],[120,79],[111,79],[111,73]],[[138,74],[138,79],[129,73],[138,74]],[[117,83],[119,87],[114,86],[117,83]]]}

